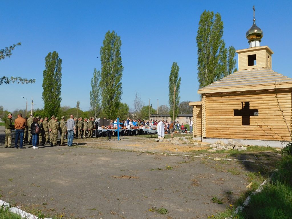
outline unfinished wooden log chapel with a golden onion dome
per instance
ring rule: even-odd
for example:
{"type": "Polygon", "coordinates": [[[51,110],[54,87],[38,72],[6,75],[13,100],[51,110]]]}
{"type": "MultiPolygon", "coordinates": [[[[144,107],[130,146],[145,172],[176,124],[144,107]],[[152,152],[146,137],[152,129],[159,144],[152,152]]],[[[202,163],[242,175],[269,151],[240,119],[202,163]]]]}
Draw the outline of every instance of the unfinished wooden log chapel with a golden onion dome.
{"type": "Polygon", "coordinates": [[[272,147],[291,142],[292,79],[272,70],[273,51],[260,46],[263,32],[255,20],[246,33],[249,48],[236,51],[238,71],[199,89],[201,101],[189,103],[195,139],[272,147]]]}

